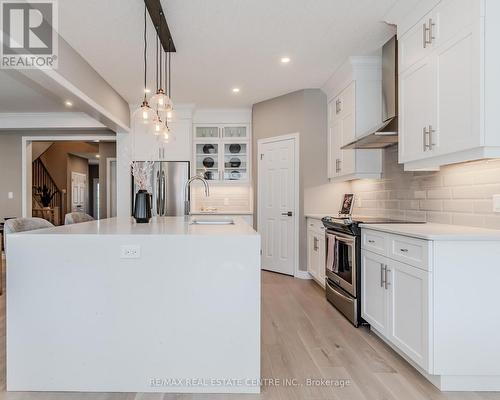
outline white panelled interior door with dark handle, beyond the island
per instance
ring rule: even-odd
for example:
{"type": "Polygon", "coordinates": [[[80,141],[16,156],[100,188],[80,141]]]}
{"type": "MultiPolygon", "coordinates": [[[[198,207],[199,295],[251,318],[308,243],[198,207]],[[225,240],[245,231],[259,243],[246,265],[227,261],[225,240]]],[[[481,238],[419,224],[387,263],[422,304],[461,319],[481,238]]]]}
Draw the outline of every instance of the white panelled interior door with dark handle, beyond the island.
{"type": "Polygon", "coordinates": [[[262,269],[294,275],[298,183],[296,138],[259,142],[259,226],[262,269]]]}

